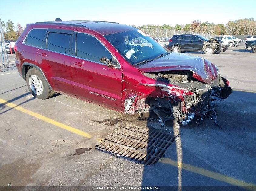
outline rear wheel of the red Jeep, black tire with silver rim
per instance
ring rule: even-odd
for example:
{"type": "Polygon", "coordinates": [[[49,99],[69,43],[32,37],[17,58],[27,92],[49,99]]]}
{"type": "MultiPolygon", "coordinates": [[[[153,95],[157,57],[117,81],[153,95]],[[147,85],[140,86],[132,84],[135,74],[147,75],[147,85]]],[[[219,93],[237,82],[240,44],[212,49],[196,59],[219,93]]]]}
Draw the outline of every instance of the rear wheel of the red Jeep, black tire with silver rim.
{"type": "Polygon", "coordinates": [[[26,82],[27,82],[28,90],[35,98],[45,100],[52,97],[54,94],[54,92],[50,89],[44,76],[37,68],[31,68],[28,70],[26,74],[26,82]],[[34,83],[34,79],[32,78],[37,80],[35,86],[32,85],[32,83],[34,83]],[[38,88],[35,88],[35,87],[38,87],[38,88]],[[31,88],[33,88],[33,90],[31,88]],[[37,92],[38,89],[40,89],[41,92],[37,92]]]}

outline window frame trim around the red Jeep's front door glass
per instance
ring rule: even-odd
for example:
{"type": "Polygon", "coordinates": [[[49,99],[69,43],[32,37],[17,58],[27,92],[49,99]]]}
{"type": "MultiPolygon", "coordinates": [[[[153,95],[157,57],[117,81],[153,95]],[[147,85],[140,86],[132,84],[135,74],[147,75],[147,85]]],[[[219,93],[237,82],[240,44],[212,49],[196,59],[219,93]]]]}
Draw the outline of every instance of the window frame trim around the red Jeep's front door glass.
{"type": "Polygon", "coordinates": [[[120,69],[120,68],[121,68],[121,65],[120,65],[120,63],[118,62],[117,58],[108,50],[108,48],[107,48],[97,37],[95,37],[95,36],[93,36],[93,35],[91,35],[91,34],[89,34],[89,33],[85,33],[85,32],[80,32],[80,31],[74,31],[74,32],[75,32],[75,34],[73,35],[73,47],[75,47],[75,49],[72,49],[72,52],[73,52],[72,57],[79,58],[79,59],[86,60],[86,61],[90,61],[90,62],[95,62],[95,63],[101,64],[101,65],[106,65],[106,64],[103,64],[103,63],[101,63],[101,62],[97,62],[97,61],[94,61],[94,60],[89,60],[89,59],[85,59],[85,58],[81,58],[81,57],[79,57],[79,56],[76,56],[76,33],[87,34],[87,35],[90,35],[91,37],[94,37],[95,39],[97,39],[97,40],[105,47],[105,49],[107,49],[107,51],[112,55],[112,57],[115,58],[115,60],[116,60],[117,63],[118,63],[115,68],[117,68],[117,69],[120,69]],[[74,50],[75,50],[75,51],[74,51],[74,50]]]}

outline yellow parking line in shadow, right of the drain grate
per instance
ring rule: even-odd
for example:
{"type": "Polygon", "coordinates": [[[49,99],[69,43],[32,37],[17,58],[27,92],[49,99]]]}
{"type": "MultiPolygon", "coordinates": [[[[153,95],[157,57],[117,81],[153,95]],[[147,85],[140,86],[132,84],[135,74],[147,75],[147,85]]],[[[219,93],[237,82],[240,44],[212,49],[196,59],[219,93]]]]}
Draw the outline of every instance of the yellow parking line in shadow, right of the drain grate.
{"type": "Polygon", "coordinates": [[[210,178],[213,178],[215,180],[219,180],[219,181],[222,181],[222,182],[234,185],[234,186],[242,186],[243,188],[253,190],[253,191],[256,190],[256,185],[255,184],[247,183],[247,182],[244,182],[242,180],[238,180],[238,179],[235,179],[235,178],[225,176],[221,173],[216,173],[216,172],[212,172],[210,170],[206,170],[206,169],[203,169],[203,168],[193,166],[191,164],[185,164],[185,163],[182,163],[180,161],[171,160],[169,158],[162,158],[159,161],[161,163],[170,164],[170,165],[175,166],[175,167],[180,167],[184,170],[188,170],[188,171],[193,172],[193,173],[201,174],[205,177],[210,177],[210,178]]]}

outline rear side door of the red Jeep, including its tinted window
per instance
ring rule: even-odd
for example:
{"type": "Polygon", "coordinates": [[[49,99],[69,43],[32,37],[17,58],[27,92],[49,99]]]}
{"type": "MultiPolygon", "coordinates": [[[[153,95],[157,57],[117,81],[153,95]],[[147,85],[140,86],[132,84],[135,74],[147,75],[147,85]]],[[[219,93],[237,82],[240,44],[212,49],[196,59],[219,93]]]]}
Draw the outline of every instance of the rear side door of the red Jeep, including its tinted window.
{"type": "Polygon", "coordinates": [[[70,62],[73,31],[48,29],[47,32],[36,60],[53,90],[75,95],[70,62]]]}

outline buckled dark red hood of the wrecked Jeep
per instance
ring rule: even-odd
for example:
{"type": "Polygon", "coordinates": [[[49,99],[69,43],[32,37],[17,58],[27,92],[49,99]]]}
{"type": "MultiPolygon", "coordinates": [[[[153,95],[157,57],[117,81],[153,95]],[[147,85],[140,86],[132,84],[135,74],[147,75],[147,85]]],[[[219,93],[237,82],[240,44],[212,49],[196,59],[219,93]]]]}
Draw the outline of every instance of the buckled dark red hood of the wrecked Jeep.
{"type": "Polygon", "coordinates": [[[138,69],[141,72],[192,71],[194,78],[207,84],[212,84],[219,76],[218,68],[210,61],[202,57],[175,52],[147,62],[139,66],[138,69]]]}

